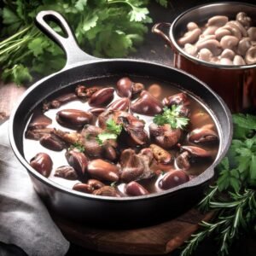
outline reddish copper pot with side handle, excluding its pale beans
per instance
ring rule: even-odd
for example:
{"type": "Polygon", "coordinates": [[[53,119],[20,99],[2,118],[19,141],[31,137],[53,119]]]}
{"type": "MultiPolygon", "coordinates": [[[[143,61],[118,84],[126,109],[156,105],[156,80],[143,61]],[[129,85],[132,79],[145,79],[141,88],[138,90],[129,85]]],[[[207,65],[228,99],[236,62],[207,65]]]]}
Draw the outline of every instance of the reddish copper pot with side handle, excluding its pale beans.
{"type": "MultiPolygon", "coordinates": [[[[178,44],[190,21],[199,25],[207,23],[214,15],[226,15],[235,19],[236,14],[245,12],[256,20],[256,5],[249,3],[212,3],[189,9],[170,23],[158,23],[152,32],[159,34],[170,44],[174,52],[174,66],[195,75],[207,83],[224,99],[232,112],[241,112],[256,108],[256,64],[226,66],[201,61],[187,54],[178,44]],[[167,27],[169,35],[161,29],[167,27]]],[[[255,23],[253,24],[255,26],[255,23]]]]}

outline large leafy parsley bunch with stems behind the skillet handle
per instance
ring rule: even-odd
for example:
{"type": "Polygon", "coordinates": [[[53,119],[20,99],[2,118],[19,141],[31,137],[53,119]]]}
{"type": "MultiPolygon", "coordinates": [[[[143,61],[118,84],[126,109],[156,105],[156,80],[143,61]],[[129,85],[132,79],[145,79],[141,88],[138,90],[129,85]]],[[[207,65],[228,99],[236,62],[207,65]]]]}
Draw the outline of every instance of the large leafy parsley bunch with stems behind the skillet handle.
{"type": "MultiPolygon", "coordinates": [[[[162,6],[167,0],[156,1],[162,6]]],[[[123,57],[135,51],[152,22],[148,0],[3,1],[0,15],[2,79],[21,84],[32,74],[47,75],[65,64],[62,50],[34,25],[40,10],[55,10],[73,27],[79,46],[91,55],[123,57]]],[[[61,32],[59,26],[54,26],[61,32]]]]}

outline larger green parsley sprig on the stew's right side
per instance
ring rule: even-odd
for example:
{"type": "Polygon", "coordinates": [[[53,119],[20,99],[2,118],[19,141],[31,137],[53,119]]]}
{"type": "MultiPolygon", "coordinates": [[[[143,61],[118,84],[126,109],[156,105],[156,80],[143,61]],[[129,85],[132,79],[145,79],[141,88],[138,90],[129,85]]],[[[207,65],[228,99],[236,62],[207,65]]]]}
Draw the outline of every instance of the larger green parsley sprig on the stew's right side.
{"type": "Polygon", "coordinates": [[[181,116],[181,105],[172,105],[171,108],[163,108],[163,113],[156,114],[153,122],[156,125],[171,125],[172,129],[183,129],[189,123],[189,118],[181,116]]]}

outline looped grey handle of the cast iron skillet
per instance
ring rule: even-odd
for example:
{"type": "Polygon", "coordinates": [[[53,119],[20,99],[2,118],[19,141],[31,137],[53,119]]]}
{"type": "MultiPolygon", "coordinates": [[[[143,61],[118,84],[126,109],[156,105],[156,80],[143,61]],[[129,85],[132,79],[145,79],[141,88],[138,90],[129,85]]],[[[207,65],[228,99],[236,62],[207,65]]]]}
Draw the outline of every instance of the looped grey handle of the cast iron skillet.
{"type": "Polygon", "coordinates": [[[70,26],[67,25],[67,21],[59,13],[52,10],[40,11],[36,16],[35,22],[38,28],[44,32],[45,35],[54,40],[56,44],[59,44],[61,48],[64,49],[67,55],[67,63],[63,69],[67,69],[69,66],[80,61],[93,61],[97,59],[96,57],[86,54],[79,48],[70,26]],[[55,32],[47,23],[49,20],[55,21],[57,25],[61,26],[61,29],[64,34],[67,35],[67,38],[62,37],[60,34],[55,32]]]}

